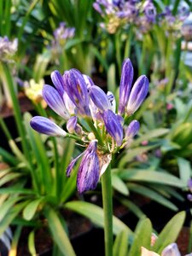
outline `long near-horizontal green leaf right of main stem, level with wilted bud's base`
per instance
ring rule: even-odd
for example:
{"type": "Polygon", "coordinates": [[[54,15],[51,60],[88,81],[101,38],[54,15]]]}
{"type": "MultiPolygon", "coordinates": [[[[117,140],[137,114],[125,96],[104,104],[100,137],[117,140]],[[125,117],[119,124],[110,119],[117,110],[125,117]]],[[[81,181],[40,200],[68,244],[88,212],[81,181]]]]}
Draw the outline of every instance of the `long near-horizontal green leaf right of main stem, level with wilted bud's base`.
{"type": "Polygon", "coordinates": [[[148,171],[142,169],[113,169],[113,172],[119,172],[119,177],[125,181],[140,181],[145,183],[160,183],[177,188],[186,186],[183,181],[172,174],[166,172],[148,171]]]}

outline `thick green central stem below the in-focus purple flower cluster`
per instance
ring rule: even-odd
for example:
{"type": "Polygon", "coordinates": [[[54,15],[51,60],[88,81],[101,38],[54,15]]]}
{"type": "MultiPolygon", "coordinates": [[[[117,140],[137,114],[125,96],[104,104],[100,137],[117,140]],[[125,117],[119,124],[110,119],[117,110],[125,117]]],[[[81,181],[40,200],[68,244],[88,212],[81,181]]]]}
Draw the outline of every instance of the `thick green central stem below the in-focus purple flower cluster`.
{"type": "Polygon", "coordinates": [[[102,175],[102,206],[104,211],[105,256],[113,255],[113,201],[111,165],[102,175]]]}

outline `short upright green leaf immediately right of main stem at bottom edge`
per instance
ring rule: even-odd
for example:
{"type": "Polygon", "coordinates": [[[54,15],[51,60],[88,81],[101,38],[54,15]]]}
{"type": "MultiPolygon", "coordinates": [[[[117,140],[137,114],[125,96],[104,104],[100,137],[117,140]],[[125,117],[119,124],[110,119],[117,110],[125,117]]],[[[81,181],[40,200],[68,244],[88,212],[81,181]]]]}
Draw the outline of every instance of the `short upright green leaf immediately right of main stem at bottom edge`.
{"type": "Polygon", "coordinates": [[[129,232],[122,230],[115,238],[113,256],[126,256],[128,250],[129,232]]]}

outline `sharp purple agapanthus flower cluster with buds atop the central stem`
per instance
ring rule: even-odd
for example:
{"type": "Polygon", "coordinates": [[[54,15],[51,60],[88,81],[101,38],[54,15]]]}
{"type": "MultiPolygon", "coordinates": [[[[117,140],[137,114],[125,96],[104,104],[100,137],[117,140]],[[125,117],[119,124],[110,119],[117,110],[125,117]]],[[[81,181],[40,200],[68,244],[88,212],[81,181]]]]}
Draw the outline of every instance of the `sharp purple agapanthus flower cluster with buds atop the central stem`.
{"type": "Polygon", "coordinates": [[[78,190],[83,193],[95,189],[108,167],[112,154],[129,146],[139,130],[137,120],[125,125],[127,118],[137,111],[148,94],[148,79],[142,75],[133,81],[133,67],[126,59],[122,66],[119,86],[119,108],[113,93],[107,94],[90,77],[76,69],[51,73],[55,88],[45,84],[44,101],[49,108],[67,120],[67,131],[50,119],[33,117],[32,128],[50,136],[73,137],[86,149],[67,167],[67,176],[82,157],[78,172],[78,190]]]}

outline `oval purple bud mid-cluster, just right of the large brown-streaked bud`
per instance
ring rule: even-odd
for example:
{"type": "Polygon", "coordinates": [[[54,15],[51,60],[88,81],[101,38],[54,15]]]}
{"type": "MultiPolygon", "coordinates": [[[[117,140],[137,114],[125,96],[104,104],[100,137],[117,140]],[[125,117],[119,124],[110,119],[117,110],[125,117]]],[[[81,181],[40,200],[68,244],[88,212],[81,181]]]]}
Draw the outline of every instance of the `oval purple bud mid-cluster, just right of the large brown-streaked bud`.
{"type": "Polygon", "coordinates": [[[101,111],[104,111],[110,108],[108,97],[100,87],[96,85],[90,86],[89,95],[91,100],[96,105],[96,107],[99,108],[101,111]]]}

